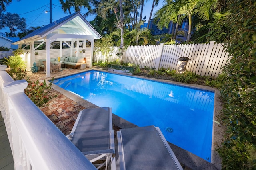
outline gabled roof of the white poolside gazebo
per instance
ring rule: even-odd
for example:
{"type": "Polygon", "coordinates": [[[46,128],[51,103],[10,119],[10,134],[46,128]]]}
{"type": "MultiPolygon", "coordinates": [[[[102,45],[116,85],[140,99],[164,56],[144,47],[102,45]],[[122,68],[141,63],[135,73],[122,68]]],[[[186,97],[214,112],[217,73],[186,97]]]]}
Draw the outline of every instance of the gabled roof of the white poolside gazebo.
{"type": "Polygon", "coordinates": [[[32,33],[26,35],[19,41],[16,41],[12,44],[16,45],[29,43],[31,41],[44,41],[44,39],[49,37],[53,37],[55,41],[60,39],[69,41],[68,39],[79,37],[100,39],[101,35],[94,29],[94,27],[92,27],[88,21],[86,21],[80,12],[75,12],[48,25],[45,25],[44,27],[36,29],[32,33]]]}

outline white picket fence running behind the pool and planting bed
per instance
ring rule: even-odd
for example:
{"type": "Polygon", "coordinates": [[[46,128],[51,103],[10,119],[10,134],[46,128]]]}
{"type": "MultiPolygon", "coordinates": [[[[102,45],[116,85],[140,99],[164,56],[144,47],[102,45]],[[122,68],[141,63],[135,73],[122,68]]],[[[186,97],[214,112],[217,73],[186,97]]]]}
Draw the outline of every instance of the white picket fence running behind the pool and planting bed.
{"type": "MultiPolygon", "coordinates": [[[[159,68],[176,70],[178,58],[188,57],[190,60],[186,70],[200,76],[217,77],[228,59],[228,53],[224,51],[223,45],[211,41],[208,44],[130,46],[123,57],[125,63],[138,64],[140,68],[156,68],[156,70],[159,68]]],[[[116,55],[118,47],[112,49],[108,61],[119,59],[116,55]]],[[[94,54],[94,62],[100,60],[105,62],[106,57],[102,54],[94,54]]]]}

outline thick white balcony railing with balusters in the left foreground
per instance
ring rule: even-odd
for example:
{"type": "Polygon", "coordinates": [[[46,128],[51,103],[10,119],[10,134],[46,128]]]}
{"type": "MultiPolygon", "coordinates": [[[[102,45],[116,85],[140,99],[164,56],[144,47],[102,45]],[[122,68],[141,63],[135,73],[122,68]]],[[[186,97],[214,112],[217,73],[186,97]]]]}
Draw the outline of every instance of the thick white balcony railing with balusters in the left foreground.
{"type": "Polygon", "coordinates": [[[0,66],[0,111],[16,170],[96,169],[0,66]]]}

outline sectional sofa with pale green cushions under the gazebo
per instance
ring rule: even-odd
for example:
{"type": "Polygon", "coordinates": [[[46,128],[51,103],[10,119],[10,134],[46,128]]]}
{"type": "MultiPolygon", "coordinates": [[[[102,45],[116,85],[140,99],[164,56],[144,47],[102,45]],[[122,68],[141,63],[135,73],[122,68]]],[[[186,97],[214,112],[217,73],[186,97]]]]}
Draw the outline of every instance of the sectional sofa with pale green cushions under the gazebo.
{"type": "MultiPolygon", "coordinates": [[[[46,61],[46,59],[39,59],[39,68],[41,71],[44,71],[44,63],[43,61],[46,61]]],[[[54,63],[58,61],[58,57],[57,58],[51,58],[50,62],[54,63]]],[[[62,63],[61,64],[61,68],[73,68],[73,69],[77,69],[81,67],[81,64],[86,63],[86,58],[85,57],[61,57],[60,61],[62,63]]]]}

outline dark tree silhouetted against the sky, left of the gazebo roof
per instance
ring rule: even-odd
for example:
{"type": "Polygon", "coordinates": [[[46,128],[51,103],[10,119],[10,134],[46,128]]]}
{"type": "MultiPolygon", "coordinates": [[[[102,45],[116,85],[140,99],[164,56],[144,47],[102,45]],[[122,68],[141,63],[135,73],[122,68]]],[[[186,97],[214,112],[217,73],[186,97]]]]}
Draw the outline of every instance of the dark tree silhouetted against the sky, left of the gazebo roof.
{"type": "Polygon", "coordinates": [[[10,13],[7,12],[4,14],[3,17],[4,25],[6,27],[9,27],[10,29],[10,36],[14,37],[15,31],[17,29],[20,29],[21,31],[25,31],[26,29],[26,19],[25,18],[20,18],[20,16],[16,13],[10,13]]]}

